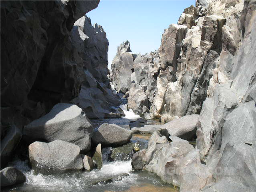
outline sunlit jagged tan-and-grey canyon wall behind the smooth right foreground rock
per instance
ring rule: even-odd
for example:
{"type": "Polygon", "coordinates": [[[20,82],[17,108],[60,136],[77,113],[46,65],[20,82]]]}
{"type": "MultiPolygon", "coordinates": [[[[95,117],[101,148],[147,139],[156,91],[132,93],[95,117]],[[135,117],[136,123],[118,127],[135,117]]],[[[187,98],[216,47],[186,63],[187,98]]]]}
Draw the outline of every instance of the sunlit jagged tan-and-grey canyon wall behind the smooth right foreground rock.
{"type": "MultiPolygon", "coordinates": [[[[243,7],[243,1],[196,1],[195,7],[184,10],[177,24],[165,30],[155,52],[138,54],[133,62],[117,53],[111,67],[112,81],[118,92],[129,94],[129,108],[145,118],[162,121],[200,114],[203,101],[211,94],[208,86],[216,73],[213,69],[224,57],[231,62],[239,49],[244,29],[238,18],[243,7]],[[129,73],[124,74],[124,68],[129,73]],[[129,83],[120,89],[119,79],[129,83]]],[[[231,65],[226,65],[228,74],[219,72],[219,81],[231,73],[231,65]]]]}

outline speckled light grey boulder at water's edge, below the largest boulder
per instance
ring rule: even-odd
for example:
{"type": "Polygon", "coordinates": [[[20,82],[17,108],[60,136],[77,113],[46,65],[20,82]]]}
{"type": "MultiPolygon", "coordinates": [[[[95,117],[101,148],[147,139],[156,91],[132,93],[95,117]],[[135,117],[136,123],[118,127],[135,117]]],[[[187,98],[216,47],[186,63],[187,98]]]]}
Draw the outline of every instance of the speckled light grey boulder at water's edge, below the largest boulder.
{"type": "Polygon", "coordinates": [[[84,168],[79,146],[62,140],[34,142],[29,145],[28,153],[37,174],[63,174],[84,168]]]}

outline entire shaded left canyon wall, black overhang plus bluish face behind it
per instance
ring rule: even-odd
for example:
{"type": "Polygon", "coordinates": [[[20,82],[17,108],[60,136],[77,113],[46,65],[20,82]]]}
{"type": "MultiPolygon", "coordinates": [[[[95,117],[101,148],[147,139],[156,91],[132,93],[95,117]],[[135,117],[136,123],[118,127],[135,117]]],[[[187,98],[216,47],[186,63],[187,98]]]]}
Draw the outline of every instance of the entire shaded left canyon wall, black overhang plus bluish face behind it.
{"type": "Polygon", "coordinates": [[[23,127],[57,103],[89,118],[123,115],[108,89],[106,33],[85,15],[98,3],[1,1],[1,166],[23,127]]]}

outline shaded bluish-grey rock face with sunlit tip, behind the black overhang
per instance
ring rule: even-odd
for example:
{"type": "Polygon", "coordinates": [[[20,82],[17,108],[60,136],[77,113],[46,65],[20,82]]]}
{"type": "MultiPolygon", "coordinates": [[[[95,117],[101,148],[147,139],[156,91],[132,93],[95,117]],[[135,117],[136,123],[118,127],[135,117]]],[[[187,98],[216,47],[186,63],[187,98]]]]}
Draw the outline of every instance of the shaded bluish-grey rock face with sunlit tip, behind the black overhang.
{"type": "Polygon", "coordinates": [[[123,111],[117,107],[121,104],[119,97],[108,89],[108,40],[102,26],[97,23],[92,26],[90,18],[85,15],[75,22],[71,39],[78,50],[78,63],[81,65],[81,91],[72,102],[81,107],[89,118],[123,116],[123,111]]]}

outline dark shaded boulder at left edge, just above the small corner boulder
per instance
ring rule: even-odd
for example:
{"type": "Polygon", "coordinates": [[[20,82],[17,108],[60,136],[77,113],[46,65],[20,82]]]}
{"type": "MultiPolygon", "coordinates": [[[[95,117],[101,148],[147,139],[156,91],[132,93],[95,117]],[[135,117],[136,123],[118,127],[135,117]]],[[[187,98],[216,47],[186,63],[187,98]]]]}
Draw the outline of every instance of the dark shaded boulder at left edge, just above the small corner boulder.
{"type": "MultiPolygon", "coordinates": [[[[1,133],[2,134],[2,133],[1,133]]],[[[5,166],[9,162],[13,155],[13,150],[20,142],[22,133],[15,125],[10,126],[7,129],[7,133],[3,139],[1,139],[1,167],[5,166]]]]}

